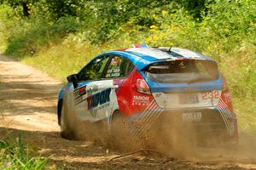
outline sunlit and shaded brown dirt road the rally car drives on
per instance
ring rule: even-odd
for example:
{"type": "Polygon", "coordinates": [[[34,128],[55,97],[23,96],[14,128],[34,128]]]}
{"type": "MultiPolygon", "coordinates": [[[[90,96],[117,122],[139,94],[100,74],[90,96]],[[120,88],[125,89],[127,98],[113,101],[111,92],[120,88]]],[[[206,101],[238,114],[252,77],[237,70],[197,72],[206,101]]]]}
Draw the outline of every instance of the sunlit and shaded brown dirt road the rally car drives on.
{"type": "Polygon", "coordinates": [[[61,82],[42,71],[0,55],[0,139],[21,133],[54,169],[256,169],[253,137],[243,139],[236,151],[201,149],[185,157],[134,154],[109,161],[125,152],[61,139],[55,113],[60,88],[61,82]]]}

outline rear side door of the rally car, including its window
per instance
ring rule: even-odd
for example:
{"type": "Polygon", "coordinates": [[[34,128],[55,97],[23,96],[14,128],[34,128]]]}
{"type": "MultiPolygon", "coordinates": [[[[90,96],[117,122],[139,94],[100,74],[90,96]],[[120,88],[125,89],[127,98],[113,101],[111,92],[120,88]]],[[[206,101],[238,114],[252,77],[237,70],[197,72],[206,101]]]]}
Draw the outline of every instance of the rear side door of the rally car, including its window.
{"type": "Polygon", "coordinates": [[[112,115],[113,111],[119,110],[117,92],[122,86],[127,73],[130,73],[133,68],[134,66],[128,59],[112,54],[102,79],[93,82],[92,90],[96,94],[93,94],[92,100],[99,100],[96,103],[92,102],[95,121],[106,119],[112,115]],[[98,95],[98,97],[95,97],[95,95],[98,95]]]}

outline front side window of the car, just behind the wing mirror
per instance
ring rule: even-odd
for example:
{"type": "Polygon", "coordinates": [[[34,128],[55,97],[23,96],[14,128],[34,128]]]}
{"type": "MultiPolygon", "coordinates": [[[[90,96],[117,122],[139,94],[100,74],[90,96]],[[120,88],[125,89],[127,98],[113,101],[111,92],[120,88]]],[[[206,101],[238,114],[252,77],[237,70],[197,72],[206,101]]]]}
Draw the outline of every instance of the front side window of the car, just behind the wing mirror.
{"type": "Polygon", "coordinates": [[[91,61],[79,73],[79,81],[100,79],[106,65],[108,64],[108,59],[108,56],[103,56],[91,61]]]}

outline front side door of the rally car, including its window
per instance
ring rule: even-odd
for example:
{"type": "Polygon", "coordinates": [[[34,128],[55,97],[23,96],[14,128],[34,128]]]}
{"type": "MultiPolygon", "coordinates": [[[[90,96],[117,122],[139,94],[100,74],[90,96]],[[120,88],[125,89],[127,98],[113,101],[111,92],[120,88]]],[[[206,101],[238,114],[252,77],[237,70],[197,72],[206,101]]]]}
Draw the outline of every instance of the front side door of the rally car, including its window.
{"type": "MultiPolygon", "coordinates": [[[[102,55],[90,61],[88,65],[79,71],[78,87],[74,89],[74,112],[80,120],[96,121],[96,107],[99,105],[99,96],[97,93],[104,89],[97,89],[97,82],[101,80],[106,66],[108,65],[108,55],[102,55]]],[[[104,92],[108,95],[108,91],[104,92]]],[[[103,102],[101,100],[101,102],[103,102]]]]}

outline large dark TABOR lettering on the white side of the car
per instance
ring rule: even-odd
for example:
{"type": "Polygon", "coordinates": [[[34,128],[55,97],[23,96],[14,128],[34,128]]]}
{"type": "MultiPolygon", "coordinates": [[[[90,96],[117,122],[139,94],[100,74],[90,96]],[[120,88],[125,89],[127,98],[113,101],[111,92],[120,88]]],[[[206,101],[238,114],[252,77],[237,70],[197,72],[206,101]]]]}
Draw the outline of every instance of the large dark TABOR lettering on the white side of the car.
{"type": "Polygon", "coordinates": [[[99,105],[104,105],[110,101],[111,88],[107,88],[103,90],[102,92],[93,94],[87,98],[87,108],[88,110],[92,110],[96,108],[99,105]]]}

